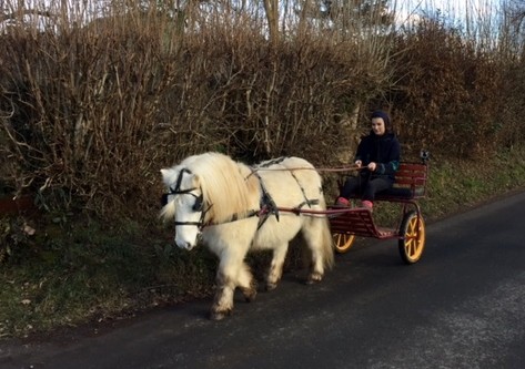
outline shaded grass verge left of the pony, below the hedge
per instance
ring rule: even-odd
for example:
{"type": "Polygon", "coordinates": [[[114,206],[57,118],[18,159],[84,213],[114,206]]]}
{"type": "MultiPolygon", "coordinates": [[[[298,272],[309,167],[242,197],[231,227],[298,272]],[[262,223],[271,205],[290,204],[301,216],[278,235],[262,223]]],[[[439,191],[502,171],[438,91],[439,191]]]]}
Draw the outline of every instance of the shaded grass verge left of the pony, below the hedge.
{"type": "Polygon", "coordinates": [[[214,257],[160,242],[161,230],[49,227],[0,266],[0,337],[118,319],[209,294],[214,257]]]}

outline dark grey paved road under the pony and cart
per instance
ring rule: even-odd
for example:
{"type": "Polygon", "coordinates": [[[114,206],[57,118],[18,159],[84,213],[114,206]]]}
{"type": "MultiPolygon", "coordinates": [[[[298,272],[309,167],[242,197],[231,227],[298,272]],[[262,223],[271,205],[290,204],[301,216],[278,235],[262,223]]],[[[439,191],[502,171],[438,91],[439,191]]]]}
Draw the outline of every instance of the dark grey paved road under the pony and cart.
{"type": "Polygon", "coordinates": [[[0,368],[525,368],[525,193],[427,227],[402,264],[395,242],[337,256],[319,285],[286,274],[234,315],[210,301],[99,335],[0,345],[0,368]]]}

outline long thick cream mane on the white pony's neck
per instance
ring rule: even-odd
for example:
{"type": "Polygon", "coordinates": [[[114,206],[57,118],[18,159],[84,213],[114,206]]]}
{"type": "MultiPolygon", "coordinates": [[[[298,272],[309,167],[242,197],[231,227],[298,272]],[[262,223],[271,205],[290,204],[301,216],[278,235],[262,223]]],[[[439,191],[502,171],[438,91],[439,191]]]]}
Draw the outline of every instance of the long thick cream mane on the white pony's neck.
{"type": "Polygon", "coordinates": [[[259,207],[260,189],[251,170],[220,153],[190,156],[181,163],[198,176],[204,202],[211,205],[204,222],[228,222],[259,207]]]}

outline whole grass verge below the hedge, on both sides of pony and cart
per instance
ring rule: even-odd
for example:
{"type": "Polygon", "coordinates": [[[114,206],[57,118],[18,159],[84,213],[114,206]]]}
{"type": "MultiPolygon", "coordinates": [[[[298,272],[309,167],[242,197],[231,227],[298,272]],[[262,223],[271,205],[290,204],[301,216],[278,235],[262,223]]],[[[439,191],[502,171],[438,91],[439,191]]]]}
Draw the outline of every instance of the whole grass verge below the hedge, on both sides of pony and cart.
{"type": "MultiPolygon", "coordinates": [[[[479,161],[436,157],[430,165],[428,196],[421,201],[427,223],[525,188],[525,148],[479,161]]],[[[398,211],[382,204],[374,217],[397,222],[398,211]]],[[[0,226],[9,222],[2,218],[0,226]]],[[[178,249],[170,227],[50,223],[43,229],[36,226],[34,236],[18,237],[0,264],[0,338],[103,324],[212,290],[215,257],[203,247],[178,249]]],[[[295,260],[300,255],[290,253],[289,269],[301,266],[295,260]]],[[[249,263],[260,277],[269,257],[250,256],[249,263]]]]}

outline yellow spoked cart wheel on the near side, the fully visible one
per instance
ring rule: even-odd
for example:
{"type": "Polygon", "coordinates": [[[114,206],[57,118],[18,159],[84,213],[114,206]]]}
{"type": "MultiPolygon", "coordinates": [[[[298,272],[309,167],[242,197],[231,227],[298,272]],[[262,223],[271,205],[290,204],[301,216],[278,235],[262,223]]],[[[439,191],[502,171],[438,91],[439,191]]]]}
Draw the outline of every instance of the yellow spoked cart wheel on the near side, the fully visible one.
{"type": "Polygon", "coordinates": [[[398,242],[400,254],[403,262],[414,264],[420,260],[425,248],[425,222],[417,212],[410,212],[403,217],[398,242]]]}

